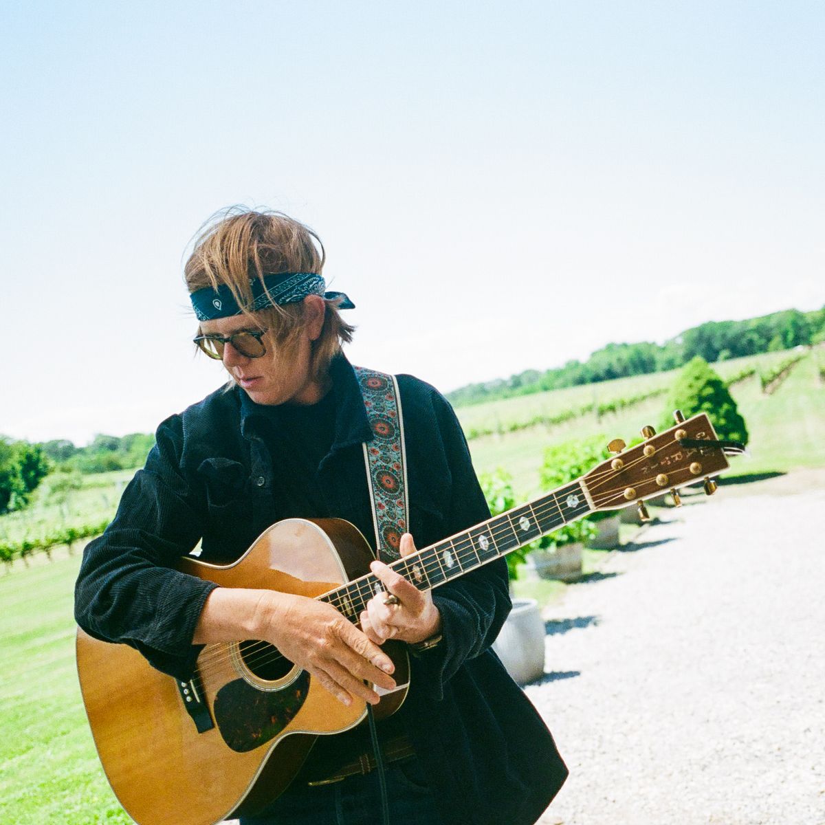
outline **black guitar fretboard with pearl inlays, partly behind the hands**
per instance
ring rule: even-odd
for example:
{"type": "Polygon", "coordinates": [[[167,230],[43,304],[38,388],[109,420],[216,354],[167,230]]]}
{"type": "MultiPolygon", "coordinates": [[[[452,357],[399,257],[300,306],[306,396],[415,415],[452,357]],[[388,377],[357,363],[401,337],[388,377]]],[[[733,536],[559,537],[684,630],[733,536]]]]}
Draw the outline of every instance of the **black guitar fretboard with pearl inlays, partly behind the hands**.
{"type": "MultiPolygon", "coordinates": [[[[419,590],[440,587],[593,512],[582,479],[436,542],[389,566],[419,590]]],[[[356,622],[384,585],[372,573],[319,596],[356,622]]]]}

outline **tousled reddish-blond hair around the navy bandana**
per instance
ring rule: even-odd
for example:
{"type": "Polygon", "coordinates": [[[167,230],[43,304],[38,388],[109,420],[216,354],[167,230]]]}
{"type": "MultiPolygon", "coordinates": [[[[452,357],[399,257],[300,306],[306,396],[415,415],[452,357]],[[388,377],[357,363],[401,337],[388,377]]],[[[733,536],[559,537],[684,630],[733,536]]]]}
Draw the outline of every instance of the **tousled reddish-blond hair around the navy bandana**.
{"type": "MultiPolygon", "coordinates": [[[[200,228],[191,255],[184,266],[183,277],[190,292],[226,285],[244,315],[267,333],[281,352],[295,347],[304,326],[304,302],[275,304],[257,310],[252,306],[250,279],[278,272],[315,272],[323,270],[326,252],[318,235],[308,226],[273,210],[247,210],[232,206],[214,214],[200,228]]],[[[322,375],[329,362],[341,351],[342,343],[352,340],[355,328],[338,312],[340,299],[325,299],[323,328],[314,342],[312,370],[322,375]]],[[[200,334],[200,332],[199,332],[200,334]]]]}

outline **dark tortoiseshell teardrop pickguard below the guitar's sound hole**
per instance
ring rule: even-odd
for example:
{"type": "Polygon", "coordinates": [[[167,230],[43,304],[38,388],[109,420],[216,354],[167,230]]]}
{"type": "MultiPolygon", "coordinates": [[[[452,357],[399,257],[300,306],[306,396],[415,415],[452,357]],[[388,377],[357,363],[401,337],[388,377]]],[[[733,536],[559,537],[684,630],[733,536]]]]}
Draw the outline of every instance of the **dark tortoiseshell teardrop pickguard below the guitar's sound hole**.
{"type": "Polygon", "coordinates": [[[224,685],[214,698],[214,720],[233,751],[253,751],[275,738],[295,718],[309,692],[302,671],[281,691],[259,691],[243,679],[224,685]]]}

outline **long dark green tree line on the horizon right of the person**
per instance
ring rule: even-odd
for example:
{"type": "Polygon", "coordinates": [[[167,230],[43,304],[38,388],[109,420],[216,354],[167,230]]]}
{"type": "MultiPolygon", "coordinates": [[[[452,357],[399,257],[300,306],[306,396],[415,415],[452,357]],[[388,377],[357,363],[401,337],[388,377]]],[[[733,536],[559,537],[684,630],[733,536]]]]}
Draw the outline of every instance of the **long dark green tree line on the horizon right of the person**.
{"type": "Polygon", "coordinates": [[[825,306],[808,313],[786,309],[744,321],[702,323],[661,346],[647,341],[611,343],[594,352],[587,361],[568,361],[543,372],[525,370],[510,378],[467,384],[448,393],[447,398],[460,407],[629,375],[675,370],[696,356],[713,363],[821,342],[825,342],[825,306]]]}

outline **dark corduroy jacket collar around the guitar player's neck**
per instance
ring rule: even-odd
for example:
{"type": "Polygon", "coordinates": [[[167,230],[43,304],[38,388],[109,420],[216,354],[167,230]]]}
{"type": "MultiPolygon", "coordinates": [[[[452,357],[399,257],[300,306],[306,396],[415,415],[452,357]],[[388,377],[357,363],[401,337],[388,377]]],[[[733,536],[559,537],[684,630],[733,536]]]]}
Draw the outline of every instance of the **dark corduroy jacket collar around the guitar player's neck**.
{"type": "MultiPolygon", "coordinates": [[[[355,370],[343,353],[339,353],[330,362],[329,377],[332,379],[330,392],[335,396],[335,441],[332,442],[331,451],[372,441],[375,436],[367,417],[361,387],[355,370]]],[[[240,400],[243,436],[260,437],[261,422],[273,421],[271,408],[252,401],[240,387],[235,387],[233,391],[238,394],[240,400]]]]}

